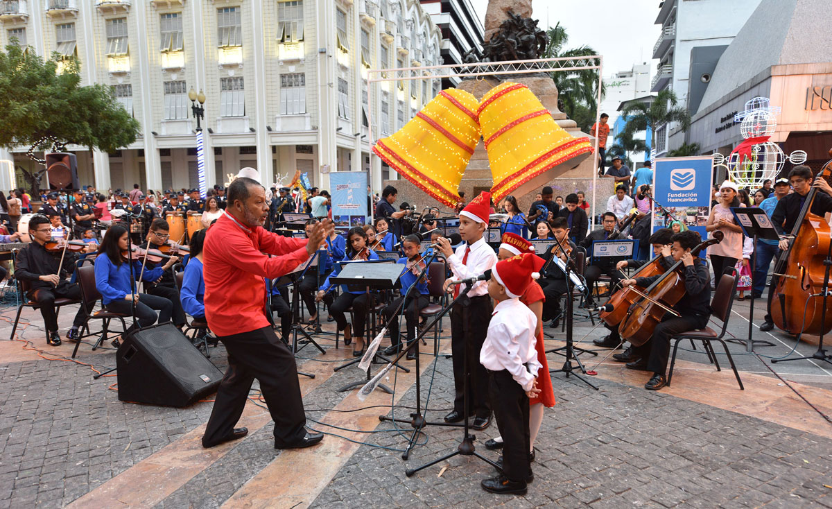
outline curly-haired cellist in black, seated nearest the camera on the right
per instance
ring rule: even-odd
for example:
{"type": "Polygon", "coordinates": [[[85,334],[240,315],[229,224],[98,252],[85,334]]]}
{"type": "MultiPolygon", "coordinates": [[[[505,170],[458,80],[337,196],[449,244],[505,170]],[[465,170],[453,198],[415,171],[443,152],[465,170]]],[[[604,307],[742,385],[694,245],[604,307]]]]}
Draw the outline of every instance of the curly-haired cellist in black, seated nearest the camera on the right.
{"type": "MultiPolygon", "coordinates": [[[[673,335],[686,330],[704,329],[711,318],[711,274],[702,260],[697,263],[691,255],[691,250],[700,244],[701,237],[696,231],[687,230],[674,234],[671,241],[673,259],[677,262],[681,260],[684,265],[685,294],[673,306],[680,316],[665,314],[661,324],[656,325],[651,339],[633,348],[637,360],[626,363],[627,368],[653,372],[650,381],[644,386],[652,391],[667,384],[665,372],[673,335]]],[[[651,278],[624,279],[622,285],[637,284],[647,288],[661,277],[662,275],[656,275],[651,278]]]]}

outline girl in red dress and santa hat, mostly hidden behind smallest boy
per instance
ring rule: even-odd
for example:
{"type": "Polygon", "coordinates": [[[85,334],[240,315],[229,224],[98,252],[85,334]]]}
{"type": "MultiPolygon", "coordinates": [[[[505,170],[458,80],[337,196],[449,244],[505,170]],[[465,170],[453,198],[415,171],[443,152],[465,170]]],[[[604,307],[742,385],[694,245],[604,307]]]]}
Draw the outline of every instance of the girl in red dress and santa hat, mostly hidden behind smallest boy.
{"type": "MultiPolygon", "coordinates": [[[[534,253],[532,250],[532,243],[523,239],[519,235],[507,233],[503,235],[500,244],[500,250],[497,254],[497,259],[508,259],[522,253],[534,253]]],[[[537,432],[540,431],[540,425],[543,423],[543,408],[552,408],[555,406],[555,393],[552,390],[552,377],[549,375],[549,364],[546,360],[546,347],[543,344],[543,289],[540,284],[533,282],[528,286],[526,292],[520,296],[520,302],[526,304],[528,309],[537,316],[537,329],[535,329],[534,348],[537,350],[537,362],[541,364],[540,370],[537,372],[537,388],[540,389],[540,394],[537,398],[529,399],[529,443],[532,450],[529,452],[534,460],[534,439],[537,437],[537,432]]],[[[503,447],[503,437],[496,437],[485,442],[487,449],[500,449],[503,447]]]]}

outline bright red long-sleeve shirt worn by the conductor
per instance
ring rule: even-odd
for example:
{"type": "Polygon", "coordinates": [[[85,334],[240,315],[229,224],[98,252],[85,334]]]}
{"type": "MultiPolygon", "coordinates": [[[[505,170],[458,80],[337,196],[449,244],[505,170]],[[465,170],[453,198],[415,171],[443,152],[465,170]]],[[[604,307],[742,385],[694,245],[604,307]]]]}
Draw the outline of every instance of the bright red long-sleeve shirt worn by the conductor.
{"type": "Polygon", "coordinates": [[[230,336],[268,326],[263,278],[288,274],[308,258],[305,239],[275,235],[260,226],[250,230],[221,215],[202,248],[210,329],[217,336],[230,336]]]}

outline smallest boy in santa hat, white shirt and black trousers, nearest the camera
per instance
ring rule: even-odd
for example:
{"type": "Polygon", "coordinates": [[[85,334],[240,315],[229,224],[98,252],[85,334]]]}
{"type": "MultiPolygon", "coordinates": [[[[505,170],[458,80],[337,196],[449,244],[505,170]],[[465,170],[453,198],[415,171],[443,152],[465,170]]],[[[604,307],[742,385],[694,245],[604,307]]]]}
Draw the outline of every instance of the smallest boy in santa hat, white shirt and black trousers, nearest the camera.
{"type": "Polygon", "coordinates": [[[537,255],[523,253],[494,265],[488,280],[488,294],[497,301],[479,362],[488,370],[488,395],[503,437],[503,472],[484,479],[483,489],[492,493],[523,495],[534,480],[529,455],[529,398],[537,388],[535,329],[537,316],[522,304],[525,293],[545,262],[537,255]]]}

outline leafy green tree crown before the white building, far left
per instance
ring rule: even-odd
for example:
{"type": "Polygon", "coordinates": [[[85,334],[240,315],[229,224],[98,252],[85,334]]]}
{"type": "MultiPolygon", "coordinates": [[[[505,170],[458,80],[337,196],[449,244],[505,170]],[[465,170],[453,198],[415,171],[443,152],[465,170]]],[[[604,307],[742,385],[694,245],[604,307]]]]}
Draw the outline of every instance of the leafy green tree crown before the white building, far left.
{"type": "MultiPolygon", "coordinates": [[[[130,145],[139,122],[116,102],[110,88],[81,86],[77,59],[58,72],[48,60],[10,44],[0,52],[0,146],[32,146],[43,136],[111,152],[130,145]]],[[[46,147],[38,147],[46,148],[46,147]]]]}

